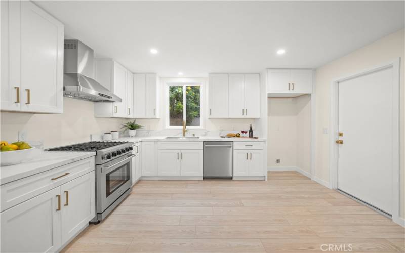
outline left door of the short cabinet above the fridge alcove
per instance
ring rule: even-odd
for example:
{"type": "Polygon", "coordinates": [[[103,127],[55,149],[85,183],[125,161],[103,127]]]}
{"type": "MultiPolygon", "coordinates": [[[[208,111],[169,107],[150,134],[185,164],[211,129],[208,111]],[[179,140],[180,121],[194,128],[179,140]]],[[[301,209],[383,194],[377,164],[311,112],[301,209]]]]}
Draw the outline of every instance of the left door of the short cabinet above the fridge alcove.
{"type": "Polygon", "coordinates": [[[290,69],[269,69],[267,72],[268,92],[292,91],[290,75],[290,69]]]}

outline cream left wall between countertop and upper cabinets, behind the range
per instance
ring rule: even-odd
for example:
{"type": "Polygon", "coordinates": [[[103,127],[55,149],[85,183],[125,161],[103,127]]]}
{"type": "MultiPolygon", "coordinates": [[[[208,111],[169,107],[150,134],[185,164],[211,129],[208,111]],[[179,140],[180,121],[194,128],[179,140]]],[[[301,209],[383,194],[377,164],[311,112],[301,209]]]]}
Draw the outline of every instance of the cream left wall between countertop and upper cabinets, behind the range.
{"type": "Polygon", "coordinates": [[[62,114],[0,112],[1,140],[15,141],[19,130],[27,140],[42,141],[45,148],[90,141],[90,134],[119,130],[127,119],[95,118],[94,103],[64,98],[62,114]]]}

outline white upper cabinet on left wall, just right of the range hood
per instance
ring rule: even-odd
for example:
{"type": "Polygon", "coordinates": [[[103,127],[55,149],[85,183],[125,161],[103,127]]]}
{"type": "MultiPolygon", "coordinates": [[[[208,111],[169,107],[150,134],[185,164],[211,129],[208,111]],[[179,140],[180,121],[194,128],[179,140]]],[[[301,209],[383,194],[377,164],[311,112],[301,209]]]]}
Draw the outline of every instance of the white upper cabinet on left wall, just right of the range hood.
{"type": "Polygon", "coordinates": [[[94,103],[96,117],[133,117],[133,74],[123,65],[111,59],[95,59],[95,79],[117,95],[122,102],[94,103]]]}

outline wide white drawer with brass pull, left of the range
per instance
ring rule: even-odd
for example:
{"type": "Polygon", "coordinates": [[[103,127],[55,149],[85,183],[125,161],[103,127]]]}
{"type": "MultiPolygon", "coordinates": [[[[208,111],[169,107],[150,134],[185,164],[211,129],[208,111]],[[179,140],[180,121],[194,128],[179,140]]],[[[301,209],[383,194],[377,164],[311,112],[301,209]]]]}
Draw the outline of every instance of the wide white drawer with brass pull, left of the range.
{"type": "Polygon", "coordinates": [[[66,164],[0,186],[1,211],[94,171],[94,157],[66,164]],[[62,176],[65,175],[65,176],[62,176]],[[60,177],[62,176],[62,177],[60,177]],[[58,178],[60,177],[60,178],[58,178]]]}

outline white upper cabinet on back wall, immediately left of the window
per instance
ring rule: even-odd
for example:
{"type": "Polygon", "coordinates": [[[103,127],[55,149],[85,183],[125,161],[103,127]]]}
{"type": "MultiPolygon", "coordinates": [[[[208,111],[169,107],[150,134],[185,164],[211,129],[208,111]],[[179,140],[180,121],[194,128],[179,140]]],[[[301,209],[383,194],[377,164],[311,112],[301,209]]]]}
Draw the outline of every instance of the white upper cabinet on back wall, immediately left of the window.
{"type": "Polygon", "coordinates": [[[158,118],[158,95],[157,74],[134,74],[134,118],[158,118]]]}

